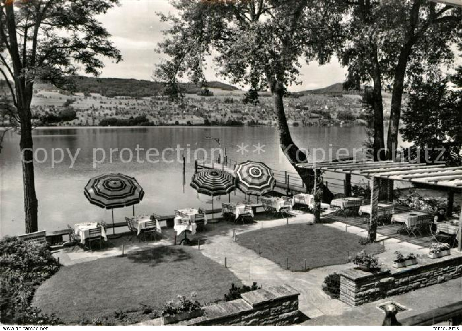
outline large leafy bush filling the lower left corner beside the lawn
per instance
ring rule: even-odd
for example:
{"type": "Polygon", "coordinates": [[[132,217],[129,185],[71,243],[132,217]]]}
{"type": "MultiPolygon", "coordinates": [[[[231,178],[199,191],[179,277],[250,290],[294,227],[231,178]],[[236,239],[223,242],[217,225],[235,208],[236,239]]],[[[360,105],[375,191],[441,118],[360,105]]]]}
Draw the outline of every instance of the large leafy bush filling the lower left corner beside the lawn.
{"type": "Polygon", "coordinates": [[[0,241],[0,321],[55,325],[60,320],[31,307],[36,288],[59,270],[47,245],[6,237],[0,241]]]}

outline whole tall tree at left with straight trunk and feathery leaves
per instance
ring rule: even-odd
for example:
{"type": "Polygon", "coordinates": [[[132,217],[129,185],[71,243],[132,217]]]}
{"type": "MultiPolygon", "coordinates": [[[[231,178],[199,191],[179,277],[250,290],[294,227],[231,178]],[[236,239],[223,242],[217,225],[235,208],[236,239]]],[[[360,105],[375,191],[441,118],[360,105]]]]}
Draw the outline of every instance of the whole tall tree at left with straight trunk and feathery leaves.
{"type": "Polygon", "coordinates": [[[0,73],[14,106],[10,115],[21,134],[26,232],[38,229],[30,111],[34,82],[69,88],[67,78],[79,70],[99,73],[100,56],[121,60],[96,19],[114,4],[116,0],[0,0],[0,73]]]}

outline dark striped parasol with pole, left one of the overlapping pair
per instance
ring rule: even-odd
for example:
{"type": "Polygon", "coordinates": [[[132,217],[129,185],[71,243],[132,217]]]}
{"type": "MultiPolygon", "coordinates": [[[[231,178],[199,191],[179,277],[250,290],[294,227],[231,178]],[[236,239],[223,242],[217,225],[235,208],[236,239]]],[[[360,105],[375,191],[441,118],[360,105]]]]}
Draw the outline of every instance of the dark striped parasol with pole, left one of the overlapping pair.
{"type": "Polygon", "coordinates": [[[203,170],[194,174],[191,181],[198,193],[212,196],[212,218],[213,218],[213,196],[231,193],[236,187],[234,177],[223,170],[203,170]]]}

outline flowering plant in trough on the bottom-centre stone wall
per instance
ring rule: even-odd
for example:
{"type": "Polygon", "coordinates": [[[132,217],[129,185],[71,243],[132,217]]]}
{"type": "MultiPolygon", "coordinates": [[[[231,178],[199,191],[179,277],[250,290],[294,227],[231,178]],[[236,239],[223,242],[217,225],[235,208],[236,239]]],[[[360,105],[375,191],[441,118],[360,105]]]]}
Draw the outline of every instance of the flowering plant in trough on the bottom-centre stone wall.
{"type": "Polygon", "coordinates": [[[166,325],[202,316],[204,310],[201,304],[194,300],[195,296],[195,293],[191,293],[191,299],[188,299],[184,295],[178,295],[176,302],[167,302],[161,309],[162,323],[166,325]]]}

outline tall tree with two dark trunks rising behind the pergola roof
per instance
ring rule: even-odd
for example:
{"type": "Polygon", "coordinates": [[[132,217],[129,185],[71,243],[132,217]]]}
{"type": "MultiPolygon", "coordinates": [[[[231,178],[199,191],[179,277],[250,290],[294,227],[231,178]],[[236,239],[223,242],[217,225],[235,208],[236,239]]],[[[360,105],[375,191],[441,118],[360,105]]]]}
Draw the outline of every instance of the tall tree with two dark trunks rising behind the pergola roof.
{"type": "Polygon", "coordinates": [[[450,65],[451,45],[460,42],[462,9],[424,0],[339,0],[349,6],[346,39],[339,47],[348,66],[348,83],[373,82],[374,158],[384,159],[382,86],[392,90],[387,137],[388,159],[397,148],[402,95],[406,82],[429,67],[450,65]]]}

